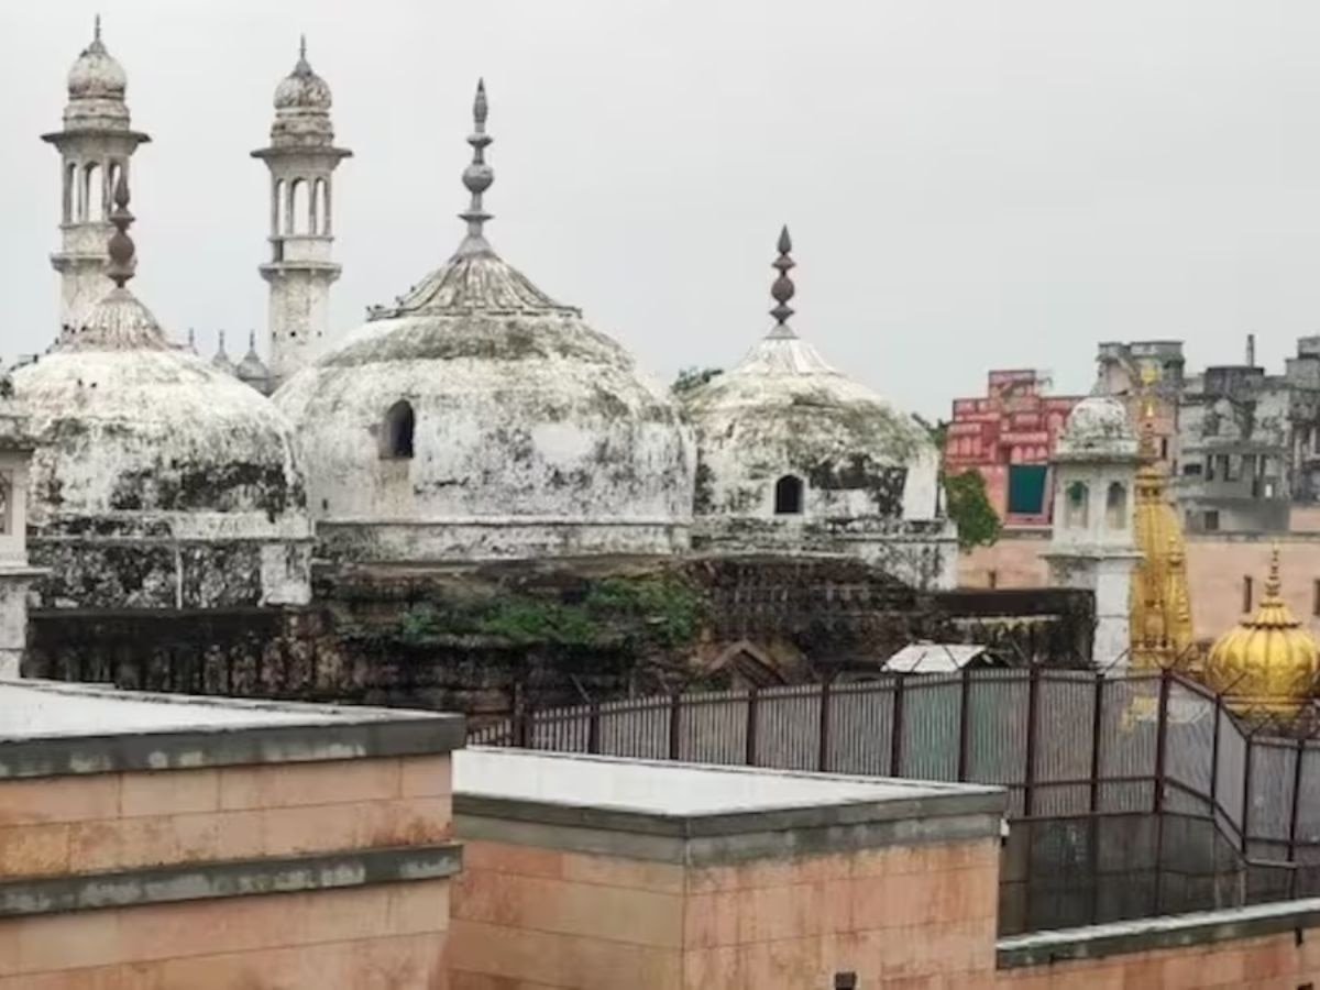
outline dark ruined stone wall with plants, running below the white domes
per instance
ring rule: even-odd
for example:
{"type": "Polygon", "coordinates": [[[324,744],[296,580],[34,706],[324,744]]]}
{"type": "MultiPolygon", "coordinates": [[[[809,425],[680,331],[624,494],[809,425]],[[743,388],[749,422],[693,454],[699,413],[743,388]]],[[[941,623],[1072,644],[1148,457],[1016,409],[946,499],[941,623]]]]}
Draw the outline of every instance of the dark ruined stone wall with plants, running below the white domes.
{"type": "Polygon", "coordinates": [[[1085,593],[921,594],[861,561],[813,557],[333,572],[315,598],[302,609],[34,610],[24,671],[502,717],[738,686],[748,673],[760,685],[867,675],[917,639],[1077,665],[1092,623],[1085,593]]]}

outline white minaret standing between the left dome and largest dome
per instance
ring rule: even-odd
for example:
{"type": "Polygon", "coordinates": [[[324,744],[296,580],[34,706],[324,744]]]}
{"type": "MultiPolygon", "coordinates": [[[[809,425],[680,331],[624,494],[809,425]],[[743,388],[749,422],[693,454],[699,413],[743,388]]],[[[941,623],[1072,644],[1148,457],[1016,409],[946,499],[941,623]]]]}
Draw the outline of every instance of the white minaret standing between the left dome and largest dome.
{"type": "Polygon", "coordinates": [[[271,169],[271,385],[301,368],[319,347],[339,277],[334,247],[334,170],[352,152],[334,147],[330,87],[308,63],[306,38],[293,73],[275,91],[271,147],[252,152],[271,169]]]}

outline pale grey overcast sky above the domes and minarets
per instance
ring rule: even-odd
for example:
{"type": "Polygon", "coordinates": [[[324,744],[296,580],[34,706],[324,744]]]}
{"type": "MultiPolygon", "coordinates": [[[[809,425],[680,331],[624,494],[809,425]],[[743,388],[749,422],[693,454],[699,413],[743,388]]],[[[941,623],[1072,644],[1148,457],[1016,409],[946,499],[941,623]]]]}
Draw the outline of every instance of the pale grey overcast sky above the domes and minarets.
{"type": "Polygon", "coordinates": [[[785,222],[795,329],[924,414],[991,367],[1085,391],[1102,339],[1279,367],[1320,331],[1313,0],[4,0],[5,358],[58,322],[38,135],[98,9],[153,139],[135,289],[207,350],[265,327],[248,152],[300,32],[355,154],[331,334],[457,246],[478,75],[495,247],[664,380],[767,330],[785,222]]]}

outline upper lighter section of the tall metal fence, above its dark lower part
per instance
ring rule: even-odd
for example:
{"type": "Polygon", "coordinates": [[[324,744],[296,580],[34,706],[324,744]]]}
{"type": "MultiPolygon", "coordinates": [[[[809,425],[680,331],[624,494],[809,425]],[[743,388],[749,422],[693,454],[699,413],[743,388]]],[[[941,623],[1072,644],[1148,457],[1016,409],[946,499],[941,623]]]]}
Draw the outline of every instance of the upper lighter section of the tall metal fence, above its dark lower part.
{"type": "MultiPolygon", "coordinates": [[[[1320,742],[1253,730],[1167,672],[965,669],[645,697],[521,711],[471,742],[998,784],[1011,820],[1203,818],[1243,861],[1320,874],[1320,742]]],[[[1287,894],[1312,892],[1296,876],[1287,894]]]]}

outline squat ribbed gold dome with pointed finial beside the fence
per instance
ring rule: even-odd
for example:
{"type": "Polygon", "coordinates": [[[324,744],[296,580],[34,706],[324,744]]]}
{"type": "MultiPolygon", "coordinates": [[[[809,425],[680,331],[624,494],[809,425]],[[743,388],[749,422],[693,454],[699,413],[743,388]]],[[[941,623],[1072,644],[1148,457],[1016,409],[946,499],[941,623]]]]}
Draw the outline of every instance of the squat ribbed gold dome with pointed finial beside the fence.
{"type": "Polygon", "coordinates": [[[1255,615],[1216,640],[1204,677],[1242,714],[1295,714],[1315,694],[1320,643],[1279,597],[1278,548],[1255,615]]]}

